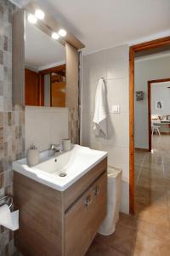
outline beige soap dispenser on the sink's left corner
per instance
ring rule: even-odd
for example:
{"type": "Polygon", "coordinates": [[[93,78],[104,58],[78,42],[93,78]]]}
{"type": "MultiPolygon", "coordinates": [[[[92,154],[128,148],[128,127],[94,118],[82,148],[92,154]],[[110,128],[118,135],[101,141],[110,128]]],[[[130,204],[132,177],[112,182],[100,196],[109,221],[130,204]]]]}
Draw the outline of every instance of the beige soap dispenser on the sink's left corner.
{"type": "Polygon", "coordinates": [[[36,166],[39,162],[39,150],[36,143],[32,143],[27,150],[27,164],[28,166],[36,166]]]}

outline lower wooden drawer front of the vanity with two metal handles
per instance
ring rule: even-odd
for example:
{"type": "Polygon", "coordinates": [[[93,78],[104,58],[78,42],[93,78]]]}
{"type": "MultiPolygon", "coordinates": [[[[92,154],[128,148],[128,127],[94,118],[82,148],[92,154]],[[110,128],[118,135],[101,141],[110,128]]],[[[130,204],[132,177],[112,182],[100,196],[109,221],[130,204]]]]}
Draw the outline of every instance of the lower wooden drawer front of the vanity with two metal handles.
{"type": "Polygon", "coordinates": [[[82,256],[105,218],[107,200],[106,172],[65,213],[65,256],[82,256]]]}

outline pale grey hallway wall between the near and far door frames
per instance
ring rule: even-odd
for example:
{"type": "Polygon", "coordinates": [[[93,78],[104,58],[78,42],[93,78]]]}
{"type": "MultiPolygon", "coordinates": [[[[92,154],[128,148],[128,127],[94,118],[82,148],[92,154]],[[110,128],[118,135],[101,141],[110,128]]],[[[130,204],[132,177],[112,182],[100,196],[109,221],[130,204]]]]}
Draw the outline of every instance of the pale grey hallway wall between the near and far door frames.
{"type": "Polygon", "coordinates": [[[135,147],[148,148],[148,92],[147,82],[170,78],[170,56],[135,61],[135,91],[144,91],[144,101],[135,102],[135,147]]]}

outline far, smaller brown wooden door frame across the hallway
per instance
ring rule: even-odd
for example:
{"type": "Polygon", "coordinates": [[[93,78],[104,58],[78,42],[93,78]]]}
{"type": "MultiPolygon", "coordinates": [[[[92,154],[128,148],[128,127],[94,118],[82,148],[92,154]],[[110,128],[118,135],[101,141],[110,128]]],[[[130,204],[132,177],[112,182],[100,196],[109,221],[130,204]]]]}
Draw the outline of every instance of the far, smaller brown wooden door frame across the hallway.
{"type": "Polygon", "coordinates": [[[149,152],[151,151],[151,85],[159,83],[170,82],[170,79],[156,79],[148,81],[148,138],[149,138],[149,152]]]}

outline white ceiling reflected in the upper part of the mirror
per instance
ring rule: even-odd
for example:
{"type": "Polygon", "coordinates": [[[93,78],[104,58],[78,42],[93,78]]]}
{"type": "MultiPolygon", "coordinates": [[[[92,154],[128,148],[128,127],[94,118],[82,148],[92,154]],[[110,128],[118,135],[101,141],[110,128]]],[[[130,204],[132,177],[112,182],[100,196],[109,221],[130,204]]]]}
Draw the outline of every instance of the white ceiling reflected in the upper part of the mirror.
{"type": "Polygon", "coordinates": [[[65,62],[65,47],[26,21],[26,66],[42,70],[63,62],[65,62]]]}

